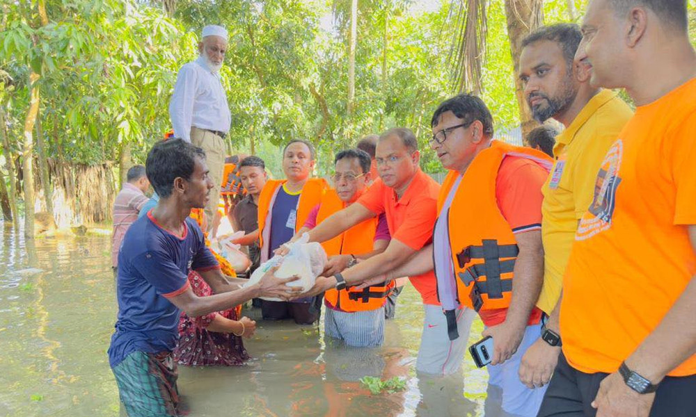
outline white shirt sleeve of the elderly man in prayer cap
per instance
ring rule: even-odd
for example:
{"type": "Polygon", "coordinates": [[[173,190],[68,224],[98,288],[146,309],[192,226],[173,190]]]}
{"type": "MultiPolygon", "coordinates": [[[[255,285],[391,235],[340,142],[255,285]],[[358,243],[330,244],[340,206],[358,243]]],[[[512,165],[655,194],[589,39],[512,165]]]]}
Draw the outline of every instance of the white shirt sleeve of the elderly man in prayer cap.
{"type": "Polygon", "coordinates": [[[197,83],[196,70],[191,65],[184,65],[179,71],[172,99],[169,101],[169,117],[174,129],[174,137],[182,138],[187,142],[191,142],[191,120],[197,83]]]}

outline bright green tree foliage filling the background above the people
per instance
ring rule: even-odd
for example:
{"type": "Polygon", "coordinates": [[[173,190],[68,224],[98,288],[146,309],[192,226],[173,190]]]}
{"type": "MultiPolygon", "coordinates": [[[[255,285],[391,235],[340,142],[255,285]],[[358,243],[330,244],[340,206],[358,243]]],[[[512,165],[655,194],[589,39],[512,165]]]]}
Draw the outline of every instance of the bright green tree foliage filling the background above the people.
{"type": "MultiPolygon", "coordinates": [[[[278,147],[292,138],[317,145],[317,174],[333,154],[368,133],[406,126],[416,133],[422,166],[442,170],[427,147],[430,116],[453,94],[448,54],[450,2],[359,0],[356,101],[347,114],[349,0],[179,0],[173,18],[161,1],[47,0],[3,3],[0,106],[10,148],[29,107],[29,70],[40,74],[40,116],[47,154],[76,163],[116,161],[131,145],[142,161],[170,127],[168,101],[177,71],[196,58],[205,24],[223,24],[230,47],[221,76],[237,151],[255,152],[280,174],[278,147]],[[385,60],[386,57],[386,60],[385,60]],[[3,83],[7,74],[12,83],[3,83]]],[[[694,0],[690,30],[694,40],[694,0]]],[[[488,47],[482,98],[496,131],[519,124],[507,40],[505,0],[487,1],[488,47]]],[[[574,0],[579,21],[587,0],[574,0]]],[[[545,22],[571,19],[567,0],[544,2],[545,22]]]]}

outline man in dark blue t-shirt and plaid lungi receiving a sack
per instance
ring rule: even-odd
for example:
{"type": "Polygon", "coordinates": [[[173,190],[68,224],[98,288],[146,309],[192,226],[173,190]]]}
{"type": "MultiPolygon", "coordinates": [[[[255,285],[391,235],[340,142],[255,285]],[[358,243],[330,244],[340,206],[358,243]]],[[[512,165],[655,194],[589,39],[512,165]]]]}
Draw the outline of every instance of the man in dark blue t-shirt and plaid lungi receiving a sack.
{"type": "Polygon", "coordinates": [[[230,309],[253,297],[287,298],[296,290],[269,271],[247,288],[226,279],[191,218],[213,187],[205,153],[180,139],[158,142],[145,170],[160,199],[132,224],[118,255],[118,319],[109,364],[129,416],[179,416],[172,350],[180,311],[190,317],[230,309]],[[196,270],[215,295],[197,297],[187,275],[196,270]]]}

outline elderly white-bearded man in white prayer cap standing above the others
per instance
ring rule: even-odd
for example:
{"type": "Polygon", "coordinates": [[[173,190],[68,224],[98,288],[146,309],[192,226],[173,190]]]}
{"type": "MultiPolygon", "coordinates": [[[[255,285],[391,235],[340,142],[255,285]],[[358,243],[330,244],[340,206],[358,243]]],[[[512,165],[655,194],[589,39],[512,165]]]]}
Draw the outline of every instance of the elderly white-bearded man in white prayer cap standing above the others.
{"type": "Polygon", "coordinates": [[[202,35],[198,42],[198,58],[179,70],[169,102],[169,117],[175,138],[203,148],[207,156],[213,188],[205,214],[208,224],[212,225],[225,165],[224,139],[231,122],[227,95],[219,74],[227,51],[228,34],[222,26],[211,25],[203,28],[202,35]]]}

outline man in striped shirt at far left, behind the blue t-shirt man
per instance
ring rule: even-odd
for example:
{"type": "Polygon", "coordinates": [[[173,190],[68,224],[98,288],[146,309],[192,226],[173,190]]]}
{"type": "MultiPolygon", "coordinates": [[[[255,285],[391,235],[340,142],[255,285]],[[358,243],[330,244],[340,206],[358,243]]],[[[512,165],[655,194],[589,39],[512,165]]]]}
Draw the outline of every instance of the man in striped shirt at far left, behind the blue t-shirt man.
{"type": "Polygon", "coordinates": [[[126,183],[113,201],[113,236],[111,236],[111,267],[116,272],[118,250],[126,231],[138,220],[140,209],[148,202],[145,191],[150,188],[150,181],[145,175],[143,165],[134,165],[126,174],[126,183]]]}

